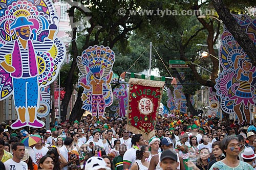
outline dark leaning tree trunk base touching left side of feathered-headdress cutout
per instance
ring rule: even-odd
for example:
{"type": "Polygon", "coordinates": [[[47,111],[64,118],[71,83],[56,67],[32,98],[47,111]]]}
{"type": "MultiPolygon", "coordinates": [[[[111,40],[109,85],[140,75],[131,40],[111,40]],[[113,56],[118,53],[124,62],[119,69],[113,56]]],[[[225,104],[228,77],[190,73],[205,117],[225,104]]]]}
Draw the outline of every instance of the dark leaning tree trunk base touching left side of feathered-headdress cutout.
{"type": "Polygon", "coordinates": [[[77,100],[75,102],[75,105],[72,109],[72,112],[70,114],[69,120],[71,122],[73,122],[75,119],[77,120],[81,120],[82,114],[84,112],[82,108],[82,100],[81,100],[81,96],[82,96],[82,92],[83,92],[83,88],[79,88],[78,89],[78,96],[77,96],[77,100]]]}

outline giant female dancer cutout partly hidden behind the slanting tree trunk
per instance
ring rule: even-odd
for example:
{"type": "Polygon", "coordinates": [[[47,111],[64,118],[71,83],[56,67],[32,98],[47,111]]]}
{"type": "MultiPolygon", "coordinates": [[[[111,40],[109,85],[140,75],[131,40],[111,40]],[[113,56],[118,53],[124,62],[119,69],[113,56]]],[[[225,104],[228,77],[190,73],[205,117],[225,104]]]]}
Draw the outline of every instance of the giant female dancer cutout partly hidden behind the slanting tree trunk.
{"type": "MultiPolygon", "coordinates": [[[[256,19],[247,15],[233,17],[256,45],[256,19]]],[[[223,71],[215,85],[221,108],[226,113],[235,113],[240,124],[251,123],[251,107],[256,102],[256,67],[226,27],[221,39],[219,56],[223,71]]]]}

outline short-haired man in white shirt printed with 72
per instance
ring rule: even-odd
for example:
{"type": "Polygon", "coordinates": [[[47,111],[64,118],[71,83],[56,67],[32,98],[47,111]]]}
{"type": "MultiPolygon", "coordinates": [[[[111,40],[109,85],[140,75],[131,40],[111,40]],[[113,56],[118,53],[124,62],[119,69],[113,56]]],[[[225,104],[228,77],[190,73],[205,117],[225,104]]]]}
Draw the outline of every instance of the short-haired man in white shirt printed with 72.
{"type": "Polygon", "coordinates": [[[25,154],[25,145],[23,143],[14,143],[12,146],[13,158],[6,161],[6,170],[28,170],[27,163],[21,161],[25,154]]]}

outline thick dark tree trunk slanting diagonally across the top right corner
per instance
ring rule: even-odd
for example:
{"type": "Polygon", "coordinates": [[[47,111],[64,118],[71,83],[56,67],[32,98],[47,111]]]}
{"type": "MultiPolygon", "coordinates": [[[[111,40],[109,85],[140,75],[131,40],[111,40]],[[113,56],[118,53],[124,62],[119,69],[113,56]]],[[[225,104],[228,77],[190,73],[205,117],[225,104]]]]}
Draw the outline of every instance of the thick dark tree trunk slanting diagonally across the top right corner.
{"type": "Polygon", "coordinates": [[[214,8],[218,12],[220,19],[224,22],[228,31],[238,41],[243,50],[251,59],[251,63],[256,66],[256,47],[246,32],[240,27],[236,19],[232,17],[222,0],[212,0],[214,8]]]}

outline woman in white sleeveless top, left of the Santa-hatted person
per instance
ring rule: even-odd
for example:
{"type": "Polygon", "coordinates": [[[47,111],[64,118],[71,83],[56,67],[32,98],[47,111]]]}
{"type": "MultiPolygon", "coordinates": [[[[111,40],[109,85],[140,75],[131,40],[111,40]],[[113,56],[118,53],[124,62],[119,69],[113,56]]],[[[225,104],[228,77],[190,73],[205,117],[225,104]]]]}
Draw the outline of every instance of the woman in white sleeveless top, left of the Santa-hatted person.
{"type": "Polygon", "coordinates": [[[150,157],[150,151],[148,147],[142,146],[140,150],[136,151],[136,160],[131,167],[131,170],[147,170],[150,167],[150,163],[145,161],[146,158],[150,157]]]}

